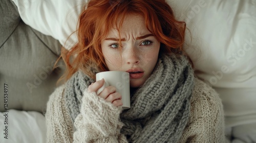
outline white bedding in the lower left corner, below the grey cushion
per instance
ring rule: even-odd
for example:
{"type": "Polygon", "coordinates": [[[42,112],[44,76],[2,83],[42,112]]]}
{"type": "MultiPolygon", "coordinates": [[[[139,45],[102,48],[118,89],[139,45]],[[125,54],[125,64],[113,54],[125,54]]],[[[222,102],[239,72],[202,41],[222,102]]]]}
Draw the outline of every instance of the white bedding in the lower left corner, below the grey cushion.
{"type": "Polygon", "coordinates": [[[46,142],[44,115],[35,111],[26,112],[14,109],[8,111],[0,112],[1,142],[46,142]]]}

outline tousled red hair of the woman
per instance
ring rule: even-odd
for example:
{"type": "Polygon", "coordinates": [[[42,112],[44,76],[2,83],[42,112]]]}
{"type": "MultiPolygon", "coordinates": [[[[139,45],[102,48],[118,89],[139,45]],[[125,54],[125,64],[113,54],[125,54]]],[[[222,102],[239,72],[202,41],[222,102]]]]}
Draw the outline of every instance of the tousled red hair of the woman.
{"type": "Polygon", "coordinates": [[[122,21],[130,13],[145,18],[146,28],[161,43],[160,53],[184,54],[185,22],[175,19],[173,10],[164,0],[91,0],[79,16],[78,43],[70,51],[62,48],[61,57],[67,65],[65,80],[78,69],[93,79],[92,68],[108,70],[101,52],[101,40],[114,27],[120,33],[122,21]]]}

